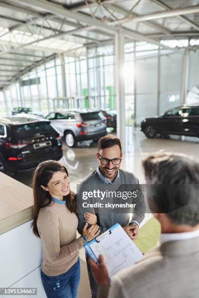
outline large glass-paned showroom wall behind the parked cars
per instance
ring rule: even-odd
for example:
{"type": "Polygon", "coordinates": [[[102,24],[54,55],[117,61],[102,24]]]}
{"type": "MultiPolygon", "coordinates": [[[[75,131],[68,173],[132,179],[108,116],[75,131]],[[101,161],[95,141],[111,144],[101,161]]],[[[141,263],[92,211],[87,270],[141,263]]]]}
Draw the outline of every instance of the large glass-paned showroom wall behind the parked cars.
{"type": "MultiPolygon", "coordinates": [[[[137,42],[136,47],[132,42],[125,44],[126,125],[139,124],[143,117],[160,115],[182,103],[183,53],[159,50],[146,42],[137,42]]],[[[190,50],[188,55],[187,91],[199,83],[199,68],[194,67],[199,64],[199,50],[190,50]]],[[[114,81],[113,45],[87,49],[77,57],[58,57],[0,93],[0,115],[20,105],[44,115],[55,108],[113,109],[114,81]]]]}

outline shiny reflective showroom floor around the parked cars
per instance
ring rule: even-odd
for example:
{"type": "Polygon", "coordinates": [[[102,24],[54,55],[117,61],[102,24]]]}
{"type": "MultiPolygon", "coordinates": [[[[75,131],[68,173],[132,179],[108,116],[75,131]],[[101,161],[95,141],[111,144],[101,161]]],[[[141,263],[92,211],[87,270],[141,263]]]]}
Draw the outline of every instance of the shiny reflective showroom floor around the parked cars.
{"type": "MultiPolygon", "coordinates": [[[[140,183],[144,183],[141,159],[160,150],[185,153],[199,161],[199,139],[192,137],[170,136],[168,138],[147,139],[139,128],[126,127],[126,152],[123,154],[121,168],[132,171],[140,183]]],[[[66,165],[71,180],[71,188],[76,191],[79,184],[89,173],[97,168],[95,152],[97,142],[83,142],[78,148],[68,148],[63,142],[63,157],[60,162],[66,165]]],[[[33,169],[16,173],[13,178],[28,186],[32,185],[33,169]]]]}

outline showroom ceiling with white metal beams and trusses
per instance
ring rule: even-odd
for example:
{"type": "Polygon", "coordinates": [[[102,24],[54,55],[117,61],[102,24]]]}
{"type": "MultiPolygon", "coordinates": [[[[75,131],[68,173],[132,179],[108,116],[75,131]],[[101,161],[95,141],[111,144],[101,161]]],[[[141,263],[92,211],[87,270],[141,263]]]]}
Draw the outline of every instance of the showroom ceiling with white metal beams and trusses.
{"type": "Polygon", "coordinates": [[[166,49],[198,39],[199,0],[0,0],[0,89],[55,56],[113,43],[119,27],[166,49]]]}

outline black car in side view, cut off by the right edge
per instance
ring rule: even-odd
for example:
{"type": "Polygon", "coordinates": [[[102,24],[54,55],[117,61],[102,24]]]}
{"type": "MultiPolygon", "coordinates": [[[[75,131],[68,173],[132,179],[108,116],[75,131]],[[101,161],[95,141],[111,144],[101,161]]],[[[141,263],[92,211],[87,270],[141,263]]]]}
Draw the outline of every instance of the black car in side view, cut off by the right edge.
{"type": "Polygon", "coordinates": [[[148,138],[157,133],[199,137],[199,106],[180,106],[160,117],[145,118],[141,122],[141,131],[148,138]]]}

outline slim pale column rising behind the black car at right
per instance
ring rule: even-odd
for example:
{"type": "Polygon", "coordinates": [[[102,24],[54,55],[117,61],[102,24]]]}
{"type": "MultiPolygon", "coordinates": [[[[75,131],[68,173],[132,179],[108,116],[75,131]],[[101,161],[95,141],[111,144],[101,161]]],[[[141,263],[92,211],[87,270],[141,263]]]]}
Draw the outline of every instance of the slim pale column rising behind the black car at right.
{"type": "Polygon", "coordinates": [[[187,96],[188,70],[189,70],[189,52],[185,51],[182,58],[182,78],[181,78],[181,96],[180,96],[181,105],[185,103],[186,96],[187,96]]]}

